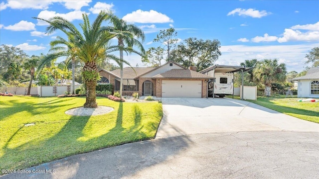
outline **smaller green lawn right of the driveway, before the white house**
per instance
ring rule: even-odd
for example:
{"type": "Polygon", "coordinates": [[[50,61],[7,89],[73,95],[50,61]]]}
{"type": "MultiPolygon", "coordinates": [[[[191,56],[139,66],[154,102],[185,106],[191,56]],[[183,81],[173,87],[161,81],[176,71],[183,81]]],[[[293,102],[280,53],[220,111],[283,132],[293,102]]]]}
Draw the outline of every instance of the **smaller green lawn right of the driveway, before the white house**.
{"type": "Polygon", "coordinates": [[[319,123],[319,102],[299,102],[298,99],[301,98],[258,97],[257,101],[248,101],[300,119],[319,123]]]}

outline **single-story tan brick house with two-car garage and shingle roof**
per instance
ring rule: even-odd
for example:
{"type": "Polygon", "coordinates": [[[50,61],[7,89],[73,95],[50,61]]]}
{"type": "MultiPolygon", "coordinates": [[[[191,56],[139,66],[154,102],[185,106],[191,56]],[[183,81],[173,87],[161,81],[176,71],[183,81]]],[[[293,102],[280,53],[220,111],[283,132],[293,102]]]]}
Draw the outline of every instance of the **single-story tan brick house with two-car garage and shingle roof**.
{"type": "MultiPolygon", "coordinates": [[[[157,68],[123,68],[123,95],[138,92],[140,96],[207,97],[207,82],[213,77],[196,72],[196,67],[189,69],[174,62],[157,68]]],[[[104,81],[108,79],[115,91],[120,90],[120,72],[120,69],[99,71],[100,76],[104,81]]]]}

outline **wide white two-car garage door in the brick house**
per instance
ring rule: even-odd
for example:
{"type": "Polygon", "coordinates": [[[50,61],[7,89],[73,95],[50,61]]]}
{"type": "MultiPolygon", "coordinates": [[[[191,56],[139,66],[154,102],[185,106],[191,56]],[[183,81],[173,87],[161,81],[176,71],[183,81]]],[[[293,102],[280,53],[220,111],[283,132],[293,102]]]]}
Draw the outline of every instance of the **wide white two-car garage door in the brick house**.
{"type": "Polygon", "coordinates": [[[163,80],[162,97],[201,97],[201,81],[163,80]]]}

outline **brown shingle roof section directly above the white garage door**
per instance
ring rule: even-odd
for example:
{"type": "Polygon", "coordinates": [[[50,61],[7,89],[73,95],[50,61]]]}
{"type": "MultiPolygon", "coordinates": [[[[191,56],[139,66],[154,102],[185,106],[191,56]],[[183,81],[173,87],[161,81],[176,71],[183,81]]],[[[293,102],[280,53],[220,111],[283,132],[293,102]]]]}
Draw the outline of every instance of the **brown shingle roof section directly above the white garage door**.
{"type": "Polygon", "coordinates": [[[180,78],[180,79],[212,79],[213,77],[188,70],[188,69],[172,69],[167,72],[154,76],[153,78],[180,78]]]}

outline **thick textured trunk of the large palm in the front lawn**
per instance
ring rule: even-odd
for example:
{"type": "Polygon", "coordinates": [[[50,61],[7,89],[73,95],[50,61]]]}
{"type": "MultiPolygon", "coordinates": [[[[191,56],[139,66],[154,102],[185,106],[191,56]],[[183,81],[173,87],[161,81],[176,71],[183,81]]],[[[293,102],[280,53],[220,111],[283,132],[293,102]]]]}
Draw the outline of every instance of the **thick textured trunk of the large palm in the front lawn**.
{"type": "MultiPolygon", "coordinates": [[[[98,73],[97,66],[94,62],[85,63],[83,67],[83,72],[90,72],[91,74],[98,73]]],[[[88,108],[96,108],[98,103],[96,103],[96,78],[93,79],[85,79],[86,84],[86,101],[84,103],[84,107],[88,108]]]]}

